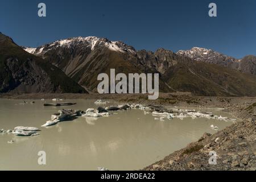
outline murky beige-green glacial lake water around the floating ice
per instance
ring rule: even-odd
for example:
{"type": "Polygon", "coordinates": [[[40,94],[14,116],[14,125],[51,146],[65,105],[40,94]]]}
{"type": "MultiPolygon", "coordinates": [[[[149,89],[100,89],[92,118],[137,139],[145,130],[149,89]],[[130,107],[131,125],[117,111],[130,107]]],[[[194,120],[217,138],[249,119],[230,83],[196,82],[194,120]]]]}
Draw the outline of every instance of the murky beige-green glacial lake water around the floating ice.
{"type": "MultiPolygon", "coordinates": [[[[43,106],[51,100],[25,101],[35,104],[0,99],[0,129],[33,126],[41,130],[40,135],[16,137],[0,133],[0,170],[98,170],[97,167],[137,170],[195,142],[205,132],[216,133],[210,125],[218,126],[218,130],[232,125],[232,122],[207,118],[159,121],[151,113],[133,109],[114,111],[109,117],[79,117],[46,128],[40,126],[58,110],[97,109],[96,100],[64,100],[77,104],[61,107],[43,106]],[[7,143],[10,140],[14,143],[7,143]],[[38,164],[39,151],[46,152],[46,165],[38,164]]],[[[196,110],[234,118],[219,109],[196,110]]]]}

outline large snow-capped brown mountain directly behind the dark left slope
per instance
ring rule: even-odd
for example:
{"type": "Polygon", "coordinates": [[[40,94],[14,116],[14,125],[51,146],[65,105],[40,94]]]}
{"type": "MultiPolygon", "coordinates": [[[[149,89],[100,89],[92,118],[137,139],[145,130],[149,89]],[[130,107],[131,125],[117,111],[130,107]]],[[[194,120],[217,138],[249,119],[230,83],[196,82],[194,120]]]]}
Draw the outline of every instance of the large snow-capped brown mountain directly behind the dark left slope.
{"type": "Polygon", "coordinates": [[[136,55],[136,50],[123,42],[114,42],[96,36],[68,38],[38,48],[23,47],[23,49],[49,61],[80,85],[90,87],[89,89],[94,89],[90,81],[98,71],[104,72],[109,64],[114,64],[113,67],[119,69],[122,67],[126,69],[125,66],[129,69],[130,65],[126,64],[131,63],[121,64],[119,60],[123,60],[127,55],[136,55]]]}

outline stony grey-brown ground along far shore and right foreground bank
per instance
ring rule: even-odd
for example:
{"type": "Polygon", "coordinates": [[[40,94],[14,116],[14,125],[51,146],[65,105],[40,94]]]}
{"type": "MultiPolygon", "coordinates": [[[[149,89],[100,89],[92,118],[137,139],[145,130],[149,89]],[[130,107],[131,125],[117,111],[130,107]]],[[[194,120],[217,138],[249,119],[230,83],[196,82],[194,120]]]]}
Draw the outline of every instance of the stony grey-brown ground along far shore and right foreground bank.
{"type": "Polygon", "coordinates": [[[188,107],[221,107],[241,118],[214,135],[205,133],[197,142],[174,152],[143,170],[256,170],[256,97],[196,97],[189,93],[161,93],[149,101],[142,94],[0,94],[12,99],[107,99],[123,103],[188,107]],[[209,152],[216,152],[216,165],[209,152]],[[212,158],[211,158],[212,159],[212,158]]]}

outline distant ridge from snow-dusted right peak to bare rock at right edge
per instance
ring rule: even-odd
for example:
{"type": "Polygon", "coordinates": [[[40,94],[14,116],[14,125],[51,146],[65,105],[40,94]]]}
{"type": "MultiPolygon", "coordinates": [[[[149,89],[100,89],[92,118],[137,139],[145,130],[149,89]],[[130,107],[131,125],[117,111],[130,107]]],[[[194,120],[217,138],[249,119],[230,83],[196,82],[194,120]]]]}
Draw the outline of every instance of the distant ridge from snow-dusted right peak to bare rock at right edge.
{"type": "Polygon", "coordinates": [[[209,64],[219,64],[224,67],[236,69],[242,73],[256,75],[256,56],[245,56],[242,59],[236,59],[211,49],[199,47],[193,47],[187,51],[178,51],[177,54],[189,57],[196,61],[203,61],[209,64]]]}

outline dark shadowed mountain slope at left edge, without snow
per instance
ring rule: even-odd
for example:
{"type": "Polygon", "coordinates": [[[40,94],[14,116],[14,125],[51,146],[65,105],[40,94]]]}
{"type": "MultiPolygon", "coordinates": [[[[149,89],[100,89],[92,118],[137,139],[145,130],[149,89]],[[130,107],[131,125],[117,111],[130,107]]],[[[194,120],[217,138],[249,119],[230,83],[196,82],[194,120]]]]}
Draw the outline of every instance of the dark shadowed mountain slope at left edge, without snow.
{"type": "Polygon", "coordinates": [[[59,68],[0,33],[0,93],[86,93],[59,68]]]}

